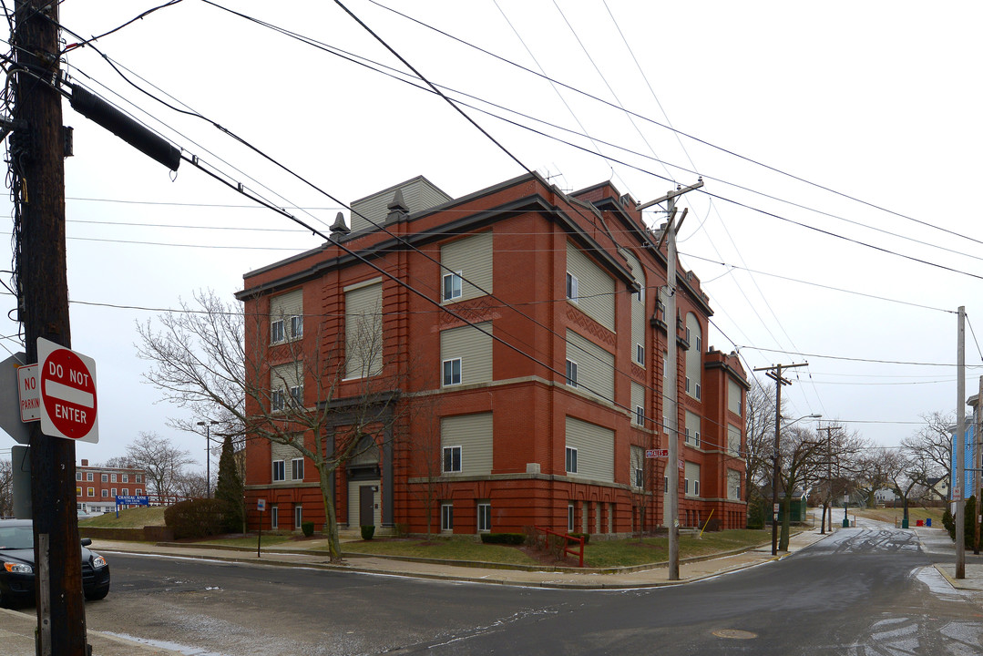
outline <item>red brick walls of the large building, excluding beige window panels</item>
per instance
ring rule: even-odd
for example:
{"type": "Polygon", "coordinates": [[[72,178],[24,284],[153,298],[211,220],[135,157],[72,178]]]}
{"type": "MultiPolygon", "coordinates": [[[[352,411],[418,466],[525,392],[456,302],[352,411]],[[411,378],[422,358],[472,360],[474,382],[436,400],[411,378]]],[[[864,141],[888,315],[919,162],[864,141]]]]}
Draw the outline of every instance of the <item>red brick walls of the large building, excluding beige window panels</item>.
{"type": "MultiPolygon", "coordinates": [[[[647,461],[640,488],[634,485],[632,447],[664,448],[669,439],[662,426],[667,339],[665,310],[659,302],[659,290],[665,286],[665,247],[655,250],[659,235],[644,227],[634,202],[609,183],[566,196],[539,176],[526,175],[434,208],[390,209],[384,222],[384,230],[335,232],[321,248],[247,273],[239,294],[247,317],[268,317],[271,298],[302,290],[304,329],[298,339],[304,340],[305,348],[317,346],[326,354],[345,343],[346,289],[381,281],[384,369],[378,380],[398,384],[374,391],[391,393],[399,404],[417,403],[427,409],[399,414],[388,437],[379,439],[371,461],[362,456],[336,472],[339,524],[372,519],[382,529],[422,533],[430,521],[436,532],[441,513],[446,513],[450,526],[445,525],[444,532],[457,534],[521,532],[534,524],[567,530],[568,523],[575,531],[623,534],[637,529],[643,516],[645,528],[663,525],[665,459],[647,461]],[[441,246],[485,232],[492,234],[492,293],[441,304],[441,276],[447,272],[438,264],[441,246]],[[613,329],[567,300],[571,247],[604,272],[606,283],[613,282],[613,329]],[[636,283],[625,252],[645,273],[644,366],[635,362],[636,283]],[[468,322],[491,327],[491,380],[444,387],[441,333],[468,322]],[[567,384],[568,329],[613,357],[611,397],[567,384]],[[644,390],[643,426],[638,425],[633,389],[636,394],[644,390]],[[433,463],[442,456],[441,421],[482,413],[491,413],[492,440],[486,449],[490,453],[482,451],[482,457],[489,458],[488,470],[479,475],[439,468],[434,472],[433,463]],[[603,475],[569,475],[565,457],[571,422],[612,435],[607,449],[612,453],[582,449],[585,459],[606,463],[603,475]],[[426,494],[428,489],[431,494],[426,494]],[[370,511],[374,517],[368,517],[370,511]]],[[[712,314],[709,299],[692,272],[679,270],[678,279],[678,452],[680,462],[699,471],[698,482],[690,482],[693,487],[687,494],[684,487],[690,483],[680,469],[680,523],[695,526],[712,517],[723,528],[742,528],[746,489],[740,455],[744,420],[739,412],[747,389],[744,371],[733,354],[703,346],[712,314]],[[687,321],[699,327],[692,343],[686,338],[687,321]],[[696,381],[686,376],[687,353],[699,357],[696,381]],[[687,383],[695,393],[687,393],[687,383]],[[686,410],[699,417],[702,427],[692,440],[683,437],[686,410]],[[734,427],[731,432],[738,430],[739,444],[728,444],[728,426],[734,427]]],[[[268,345],[269,329],[269,322],[257,328],[248,325],[247,351],[267,349],[268,366],[274,367],[287,356],[268,345]]],[[[324,387],[330,381],[321,383],[324,387]]],[[[333,402],[358,397],[364,383],[341,381],[333,402]]],[[[314,381],[303,382],[306,407],[322,400],[317,388],[314,381]]],[[[251,402],[247,401],[248,411],[251,402]]],[[[310,444],[311,436],[306,440],[310,444]]],[[[257,526],[257,500],[264,499],[264,529],[270,528],[273,507],[278,528],[296,529],[296,519],[301,518],[319,528],[324,510],[318,472],[306,463],[303,479],[290,479],[272,466],[274,448],[264,440],[247,443],[250,525],[257,526]],[[280,480],[274,481],[274,476],[280,480]]],[[[286,469],[290,466],[286,462],[286,469]]]]}

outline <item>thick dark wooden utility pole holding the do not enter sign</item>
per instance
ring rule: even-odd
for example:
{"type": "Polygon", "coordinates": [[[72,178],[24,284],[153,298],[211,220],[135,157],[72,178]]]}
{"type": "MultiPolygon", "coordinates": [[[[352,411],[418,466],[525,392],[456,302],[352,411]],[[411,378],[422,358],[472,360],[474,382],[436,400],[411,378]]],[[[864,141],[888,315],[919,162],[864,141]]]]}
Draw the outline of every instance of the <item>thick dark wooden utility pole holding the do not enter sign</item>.
{"type": "MultiPolygon", "coordinates": [[[[12,185],[19,311],[29,363],[37,338],[71,346],[65,264],[66,138],[62,128],[58,3],[15,3],[12,185]]],[[[30,428],[37,653],[85,656],[86,610],[75,500],[75,443],[30,428]]]]}

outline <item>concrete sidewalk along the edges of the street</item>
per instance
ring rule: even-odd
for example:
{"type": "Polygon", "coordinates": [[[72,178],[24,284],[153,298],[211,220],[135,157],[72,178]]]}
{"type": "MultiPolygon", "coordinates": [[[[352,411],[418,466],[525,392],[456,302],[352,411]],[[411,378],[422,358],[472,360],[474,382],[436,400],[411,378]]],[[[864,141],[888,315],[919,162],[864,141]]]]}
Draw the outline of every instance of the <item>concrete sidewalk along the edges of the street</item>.
{"type": "MultiPolygon", "coordinates": [[[[839,529],[838,529],[839,530],[839,529]]],[[[922,550],[935,556],[949,554],[954,556],[955,547],[945,531],[938,528],[914,528],[922,545],[922,550]]],[[[316,567],[339,571],[357,571],[378,575],[411,576],[417,578],[471,581],[500,585],[537,586],[569,589],[613,590],[625,588],[645,588],[666,585],[680,585],[710,578],[729,571],[755,567],[771,561],[780,560],[829,537],[819,529],[809,529],[793,535],[789,541],[788,552],[772,556],[771,545],[751,551],[718,556],[716,558],[686,561],[679,564],[678,581],[668,580],[665,566],[648,568],[576,569],[557,568],[540,570],[510,568],[493,564],[474,564],[475,567],[462,566],[444,561],[406,561],[379,558],[375,556],[347,555],[347,562],[332,565],[323,553],[310,549],[274,548],[264,550],[258,558],[255,550],[232,550],[208,548],[202,545],[152,545],[130,542],[99,540],[93,543],[95,551],[112,554],[154,554],[178,558],[214,559],[225,562],[249,563],[278,567],[316,567]]],[[[306,543],[307,547],[310,543],[306,543]]],[[[954,578],[954,566],[937,565],[936,568],[949,579],[955,588],[983,590],[983,564],[967,564],[966,577],[954,578]]],[[[112,592],[110,592],[112,594],[112,592]]],[[[32,656],[34,654],[34,609],[8,611],[0,609],[0,645],[4,656],[32,656]]],[[[88,632],[92,653],[97,656],[180,656],[180,652],[126,640],[98,631],[88,632]]]]}

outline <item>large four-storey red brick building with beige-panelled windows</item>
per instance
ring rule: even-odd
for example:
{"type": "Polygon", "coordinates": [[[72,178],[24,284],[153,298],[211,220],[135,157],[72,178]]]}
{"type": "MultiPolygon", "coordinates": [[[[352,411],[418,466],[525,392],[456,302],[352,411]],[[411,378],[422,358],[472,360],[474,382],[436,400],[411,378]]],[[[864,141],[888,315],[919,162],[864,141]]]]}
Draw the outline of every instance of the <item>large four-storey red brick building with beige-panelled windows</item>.
{"type": "MultiPolygon", "coordinates": [[[[375,377],[399,382],[374,391],[394,407],[428,408],[399,415],[337,470],[342,527],[665,525],[666,460],[645,453],[673,439],[662,399],[665,250],[635,207],[610,183],[563,194],[530,174],[452,199],[418,177],[353,203],[351,227],[339,214],[321,247],[244,276],[246,316],[268,319],[247,329],[247,350],[265,349],[260,377],[286,366],[284,342],[350,351],[337,376],[267,379],[274,407],[316,407],[329,387],[344,407],[375,377]],[[367,327],[380,343],[370,356],[354,352],[367,327]]],[[[699,279],[679,268],[678,280],[679,520],[696,526],[713,513],[742,528],[748,384],[734,354],[706,346],[712,310],[699,279]]],[[[328,431],[354,421],[339,413],[328,431]]],[[[254,528],[260,498],[264,529],[320,526],[318,472],[304,465],[293,447],[248,441],[254,528]]]]}

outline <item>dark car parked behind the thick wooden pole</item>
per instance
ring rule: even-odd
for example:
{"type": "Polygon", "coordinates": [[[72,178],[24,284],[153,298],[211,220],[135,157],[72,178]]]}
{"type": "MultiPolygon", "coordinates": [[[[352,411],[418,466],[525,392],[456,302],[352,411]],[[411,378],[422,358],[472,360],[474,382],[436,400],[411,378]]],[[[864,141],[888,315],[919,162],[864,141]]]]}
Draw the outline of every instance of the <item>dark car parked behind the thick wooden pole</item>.
{"type": "MultiPolygon", "coordinates": [[[[86,599],[109,593],[109,566],[82,541],[82,591],[86,599]]],[[[0,606],[34,600],[34,533],[29,519],[0,519],[0,606]]]]}

